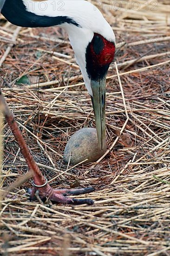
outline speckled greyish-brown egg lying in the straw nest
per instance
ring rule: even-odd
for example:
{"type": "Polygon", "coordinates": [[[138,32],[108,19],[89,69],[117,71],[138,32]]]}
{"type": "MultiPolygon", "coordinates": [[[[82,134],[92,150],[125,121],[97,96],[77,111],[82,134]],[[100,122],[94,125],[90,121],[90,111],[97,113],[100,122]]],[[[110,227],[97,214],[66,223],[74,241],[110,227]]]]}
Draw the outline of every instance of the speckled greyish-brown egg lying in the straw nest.
{"type": "Polygon", "coordinates": [[[72,135],[64,151],[64,162],[77,164],[85,161],[96,162],[105,153],[105,148],[98,148],[98,137],[95,128],[83,128],[72,135]]]}

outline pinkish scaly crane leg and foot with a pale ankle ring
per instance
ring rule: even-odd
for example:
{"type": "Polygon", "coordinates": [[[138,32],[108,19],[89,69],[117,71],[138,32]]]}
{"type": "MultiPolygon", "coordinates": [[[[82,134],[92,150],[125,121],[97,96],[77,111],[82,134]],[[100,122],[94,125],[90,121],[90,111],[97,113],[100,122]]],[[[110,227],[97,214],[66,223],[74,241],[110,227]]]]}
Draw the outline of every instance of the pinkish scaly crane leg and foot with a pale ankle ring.
{"type": "Polygon", "coordinates": [[[40,198],[49,198],[53,202],[67,203],[67,204],[89,204],[92,205],[92,199],[76,199],[71,198],[68,195],[81,195],[94,191],[94,188],[81,188],[81,189],[53,189],[47,182],[46,178],[43,176],[39,167],[33,159],[24,137],[22,136],[20,129],[13,117],[11,110],[9,109],[7,102],[0,90],[0,111],[5,116],[9,127],[11,128],[15,140],[18,142],[21,153],[24,155],[26,163],[30,170],[33,171],[33,189],[30,189],[30,199],[33,200],[35,192],[39,191],[40,198]]]}

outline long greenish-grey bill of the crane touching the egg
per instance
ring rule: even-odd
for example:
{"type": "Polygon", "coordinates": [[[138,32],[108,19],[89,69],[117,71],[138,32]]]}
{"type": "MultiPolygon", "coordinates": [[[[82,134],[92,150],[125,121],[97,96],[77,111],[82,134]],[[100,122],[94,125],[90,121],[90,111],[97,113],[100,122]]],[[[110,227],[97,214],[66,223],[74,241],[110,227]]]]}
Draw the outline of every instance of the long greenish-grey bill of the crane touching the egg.
{"type": "Polygon", "coordinates": [[[105,149],[105,84],[105,77],[98,81],[91,80],[92,105],[96,121],[98,146],[101,150],[105,149]]]}

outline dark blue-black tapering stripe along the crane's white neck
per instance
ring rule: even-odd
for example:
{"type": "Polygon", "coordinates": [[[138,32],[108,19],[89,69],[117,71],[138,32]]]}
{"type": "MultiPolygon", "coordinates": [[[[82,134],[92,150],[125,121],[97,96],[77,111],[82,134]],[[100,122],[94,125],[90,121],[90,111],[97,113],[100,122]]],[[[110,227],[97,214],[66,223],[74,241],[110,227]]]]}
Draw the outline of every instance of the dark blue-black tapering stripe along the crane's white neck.
{"type": "Polygon", "coordinates": [[[68,16],[40,16],[26,11],[22,0],[6,0],[1,13],[12,24],[20,27],[51,27],[64,23],[81,27],[75,20],[68,16]]]}

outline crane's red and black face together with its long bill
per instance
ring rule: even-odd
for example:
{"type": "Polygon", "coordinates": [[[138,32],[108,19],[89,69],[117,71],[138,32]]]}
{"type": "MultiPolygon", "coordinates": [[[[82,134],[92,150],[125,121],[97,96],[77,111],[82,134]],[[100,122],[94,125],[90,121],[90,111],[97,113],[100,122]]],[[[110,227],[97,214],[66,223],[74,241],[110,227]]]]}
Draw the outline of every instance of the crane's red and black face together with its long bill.
{"type": "Polygon", "coordinates": [[[98,146],[105,148],[105,84],[108,68],[113,61],[115,44],[100,34],[94,34],[86,48],[86,70],[92,89],[92,105],[96,120],[98,146]]]}

